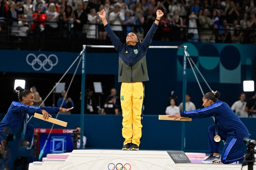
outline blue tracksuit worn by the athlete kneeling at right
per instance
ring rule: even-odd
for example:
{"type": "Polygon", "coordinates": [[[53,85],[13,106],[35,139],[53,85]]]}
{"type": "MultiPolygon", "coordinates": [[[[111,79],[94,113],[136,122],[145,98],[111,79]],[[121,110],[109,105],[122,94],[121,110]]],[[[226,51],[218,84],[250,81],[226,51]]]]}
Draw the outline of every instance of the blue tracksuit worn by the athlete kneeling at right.
{"type": "MultiPolygon", "coordinates": [[[[239,150],[243,145],[243,138],[249,137],[249,132],[243,122],[227,105],[227,103],[216,100],[212,105],[203,109],[181,112],[181,117],[206,118],[214,116],[218,122],[218,135],[225,140],[222,151],[222,163],[233,163],[243,160],[246,150],[239,150]]],[[[215,125],[208,129],[209,152],[219,153],[219,142],[214,141],[215,125]]]]}

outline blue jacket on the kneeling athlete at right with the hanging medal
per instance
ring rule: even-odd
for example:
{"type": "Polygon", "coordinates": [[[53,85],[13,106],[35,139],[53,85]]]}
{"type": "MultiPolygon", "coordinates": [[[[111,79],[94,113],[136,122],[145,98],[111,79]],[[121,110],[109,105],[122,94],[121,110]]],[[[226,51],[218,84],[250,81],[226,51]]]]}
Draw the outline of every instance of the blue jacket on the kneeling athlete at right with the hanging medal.
{"type": "Polygon", "coordinates": [[[218,128],[235,139],[248,138],[249,132],[239,117],[225,102],[216,100],[215,103],[203,109],[181,112],[181,117],[206,118],[214,116],[218,122],[218,128]]]}

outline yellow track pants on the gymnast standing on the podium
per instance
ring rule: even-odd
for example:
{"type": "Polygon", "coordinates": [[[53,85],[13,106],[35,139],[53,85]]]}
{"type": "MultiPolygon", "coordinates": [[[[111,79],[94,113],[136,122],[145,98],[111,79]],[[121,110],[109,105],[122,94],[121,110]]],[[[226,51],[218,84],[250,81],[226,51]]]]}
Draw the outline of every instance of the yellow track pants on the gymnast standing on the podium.
{"type": "Polygon", "coordinates": [[[122,135],[127,143],[139,146],[142,138],[142,105],[144,100],[144,84],[142,82],[124,83],[121,85],[122,135]]]}

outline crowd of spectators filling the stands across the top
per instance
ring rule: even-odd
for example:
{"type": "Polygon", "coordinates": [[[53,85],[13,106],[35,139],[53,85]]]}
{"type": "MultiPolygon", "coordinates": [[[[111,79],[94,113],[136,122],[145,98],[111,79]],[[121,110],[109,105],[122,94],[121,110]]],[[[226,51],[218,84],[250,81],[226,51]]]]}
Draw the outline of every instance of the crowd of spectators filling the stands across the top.
{"type": "Polygon", "coordinates": [[[143,39],[161,9],[161,40],[255,43],[254,0],[0,0],[0,31],[106,39],[102,9],[121,40],[129,32],[143,39]]]}

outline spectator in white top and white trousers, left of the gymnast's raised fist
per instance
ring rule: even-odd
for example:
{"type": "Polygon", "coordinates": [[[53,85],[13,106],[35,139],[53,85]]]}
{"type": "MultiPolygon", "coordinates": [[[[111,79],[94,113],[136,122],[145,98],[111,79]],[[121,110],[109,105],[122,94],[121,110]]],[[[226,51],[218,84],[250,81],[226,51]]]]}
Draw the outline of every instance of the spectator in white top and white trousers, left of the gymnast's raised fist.
{"type": "Polygon", "coordinates": [[[98,22],[97,20],[99,19],[99,15],[96,15],[96,10],[93,8],[90,10],[90,14],[88,15],[88,23],[89,26],[87,28],[87,34],[86,38],[94,38],[98,39],[98,32],[96,31],[96,25],[98,22]]]}

